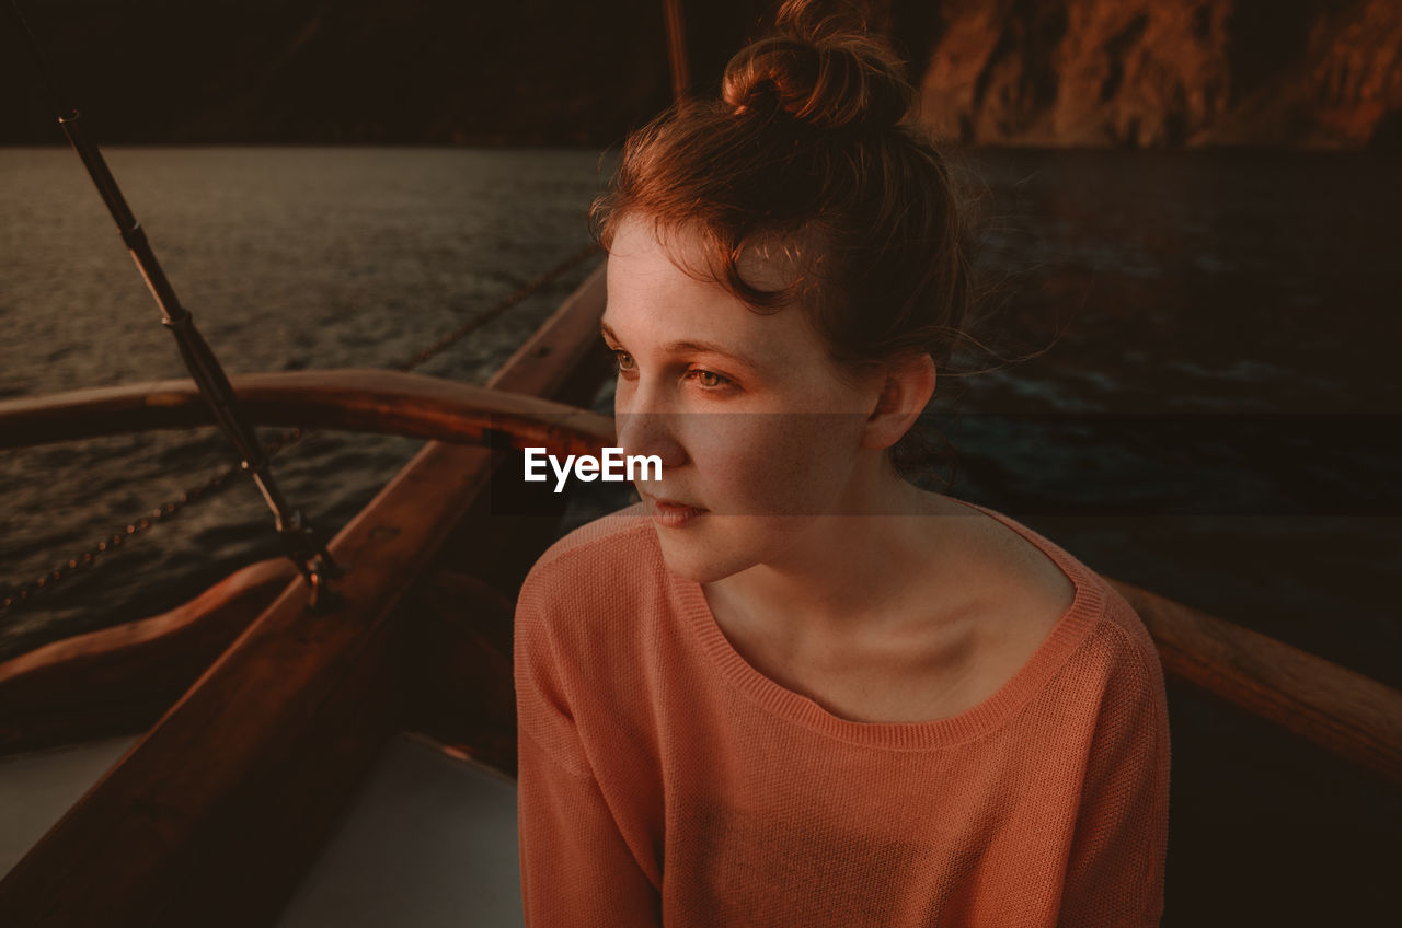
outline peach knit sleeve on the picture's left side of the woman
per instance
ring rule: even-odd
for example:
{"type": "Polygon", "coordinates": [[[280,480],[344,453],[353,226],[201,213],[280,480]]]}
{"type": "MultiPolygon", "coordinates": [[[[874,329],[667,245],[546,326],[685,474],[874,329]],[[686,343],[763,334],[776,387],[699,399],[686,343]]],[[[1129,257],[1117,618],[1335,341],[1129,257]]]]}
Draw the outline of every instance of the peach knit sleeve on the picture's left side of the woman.
{"type": "Polygon", "coordinates": [[[516,610],[517,824],[529,928],[656,928],[662,901],[590,770],[527,580],[516,610]]]}

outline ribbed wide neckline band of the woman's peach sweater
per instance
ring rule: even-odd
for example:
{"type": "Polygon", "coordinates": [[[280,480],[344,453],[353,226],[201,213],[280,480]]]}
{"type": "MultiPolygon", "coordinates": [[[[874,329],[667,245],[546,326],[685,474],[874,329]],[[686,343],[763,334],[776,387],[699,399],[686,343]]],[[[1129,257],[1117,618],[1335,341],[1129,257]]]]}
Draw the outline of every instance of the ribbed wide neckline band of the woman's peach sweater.
{"type": "Polygon", "coordinates": [[[997,519],[1016,531],[1049,557],[1075,587],[1071,606],[1061,614],[1032,657],[993,695],[963,712],[925,722],[854,722],[834,715],[815,700],[781,685],[754,669],[721,631],[701,585],[673,575],[686,621],[722,677],[764,709],[789,722],[838,740],[871,747],[910,750],[977,739],[997,729],[1021,709],[1061,667],[1102,614],[1105,596],[1088,568],[1040,534],[984,506],[952,496],[948,499],[997,519]]]}

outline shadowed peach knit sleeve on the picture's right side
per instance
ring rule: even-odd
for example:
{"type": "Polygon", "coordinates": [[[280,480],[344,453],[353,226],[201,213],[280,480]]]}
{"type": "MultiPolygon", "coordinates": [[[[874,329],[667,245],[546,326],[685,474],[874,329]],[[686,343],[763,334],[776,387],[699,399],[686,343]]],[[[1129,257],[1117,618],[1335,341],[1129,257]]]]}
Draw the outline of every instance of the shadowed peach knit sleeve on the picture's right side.
{"type": "MultiPolygon", "coordinates": [[[[1158,925],[1168,844],[1168,709],[1157,655],[1127,638],[1103,701],[1071,840],[1066,927],[1158,925]]],[[[1152,645],[1150,645],[1152,648],[1152,645]]]]}

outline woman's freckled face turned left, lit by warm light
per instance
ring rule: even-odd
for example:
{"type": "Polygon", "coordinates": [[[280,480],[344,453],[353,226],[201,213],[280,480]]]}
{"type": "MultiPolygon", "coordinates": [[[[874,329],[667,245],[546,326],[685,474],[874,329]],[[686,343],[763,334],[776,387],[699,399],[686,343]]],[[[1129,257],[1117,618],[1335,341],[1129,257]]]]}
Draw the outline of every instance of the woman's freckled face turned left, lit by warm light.
{"type": "MultiPolygon", "coordinates": [[[[824,543],[822,516],[861,510],[879,472],[880,450],[862,444],[883,378],[840,377],[801,308],[750,310],[677,266],[705,266],[691,233],[662,236],[651,220],[620,223],[603,334],[618,360],[618,444],[662,458],[662,479],[637,486],[663,557],[698,583],[798,566],[824,543]]],[[[758,257],[742,272],[765,289],[788,282],[758,257]]]]}

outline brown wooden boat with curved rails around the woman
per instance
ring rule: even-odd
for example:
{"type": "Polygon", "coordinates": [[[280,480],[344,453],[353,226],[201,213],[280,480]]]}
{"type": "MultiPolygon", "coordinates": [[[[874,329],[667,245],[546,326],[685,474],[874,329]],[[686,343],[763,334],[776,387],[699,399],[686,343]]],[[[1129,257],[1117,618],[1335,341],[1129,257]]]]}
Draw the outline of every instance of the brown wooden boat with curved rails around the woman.
{"type": "MultiPolygon", "coordinates": [[[[374,370],[231,378],[259,425],[426,444],[328,543],[343,575],[315,608],[294,564],[262,561],[171,611],[0,663],[0,761],[118,746],[109,767],[108,756],[77,771],[91,785],[15,852],[0,925],[289,924],[405,737],[495,778],[509,805],[513,597],[557,537],[562,500],[494,474],[527,443],[611,440],[607,416],[583,408],[608,373],[596,346],[603,290],[596,268],[486,388],[374,370]]],[[[3,401],[0,446],[210,422],[193,381],[137,384],[3,401]]],[[[1169,677],[1402,784],[1402,692],[1108,579],[1169,677]]],[[[502,847],[509,865],[515,848],[502,847]]],[[[442,879],[457,879],[456,861],[439,864],[442,879]]],[[[512,887],[509,875],[486,883],[512,887]]],[[[451,920],[401,915],[395,924],[451,920]]]]}

